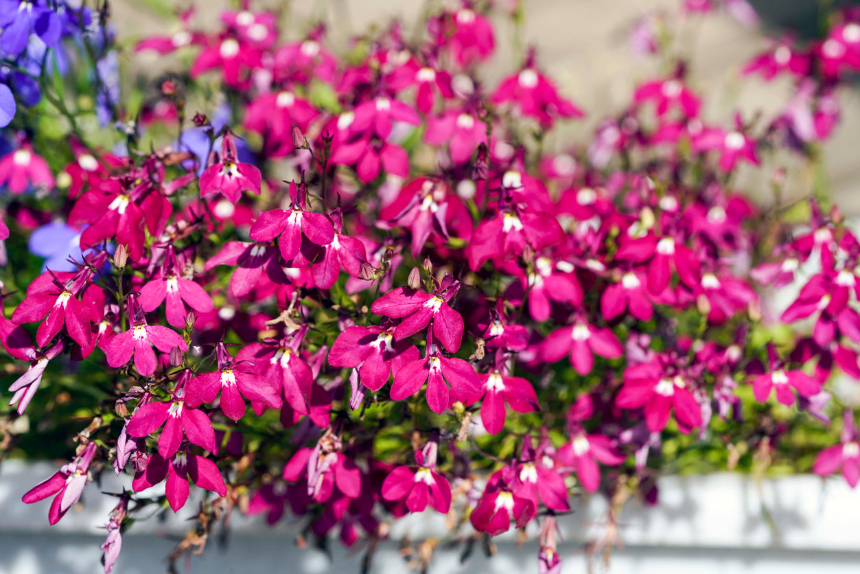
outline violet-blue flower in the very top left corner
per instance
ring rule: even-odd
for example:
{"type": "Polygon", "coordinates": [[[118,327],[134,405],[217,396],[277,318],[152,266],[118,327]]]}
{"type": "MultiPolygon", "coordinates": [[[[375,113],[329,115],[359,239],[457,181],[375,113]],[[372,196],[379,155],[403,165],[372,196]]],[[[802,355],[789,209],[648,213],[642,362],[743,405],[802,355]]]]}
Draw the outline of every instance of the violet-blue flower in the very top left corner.
{"type": "Polygon", "coordinates": [[[47,46],[56,46],[63,31],[56,12],[46,0],[0,0],[0,52],[16,57],[27,48],[30,34],[47,46]]]}

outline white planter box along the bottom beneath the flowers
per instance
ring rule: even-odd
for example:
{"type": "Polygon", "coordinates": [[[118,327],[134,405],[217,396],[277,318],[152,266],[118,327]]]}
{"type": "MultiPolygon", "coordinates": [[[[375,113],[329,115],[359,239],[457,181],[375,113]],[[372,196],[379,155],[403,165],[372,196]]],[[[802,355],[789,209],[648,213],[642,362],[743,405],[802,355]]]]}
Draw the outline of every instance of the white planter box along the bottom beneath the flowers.
{"type": "MultiPolygon", "coordinates": [[[[101,571],[100,527],[115,499],[100,491],[119,491],[127,480],[113,478],[89,485],[85,509],[72,509],[58,525],[47,523],[49,502],[27,505],[22,494],[56,470],[47,463],[7,461],[0,466],[0,574],[81,573],[101,571]]],[[[127,477],[126,477],[127,478],[127,477]]],[[[123,537],[118,574],[163,571],[164,557],[185,532],[195,505],[189,501],[166,522],[140,522],[123,537]]],[[[565,572],[586,572],[585,540],[602,532],[606,503],[602,497],[574,501],[574,514],[560,520],[564,541],[559,552],[565,572]]],[[[289,522],[289,521],[286,521],[289,522]]],[[[765,480],[735,474],[667,477],[660,480],[660,505],[643,509],[633,501],[620,518],[624,550],[611,556],[611,574],[856,574],[860,571],[860,493],[841,478],[796,476],[765,480]]],[[[364,548],[345,549],[332,541],[331,560],[322,552],[293,545],[297,522],[267,528],[261,521],[234,516],[229,546],[210,540],[206,552],[189,563],[191,571],[338,572],[358,574],[364,548]]],[[[373,572],[405,571],[397,540],[445,534],[440,515],[409,516],[391,528],[373,560],[373,572]]],[[[459,563],[459,548],[439,550],[431,574],[454,572],[537,572],[537,544],[517,549],[513,536],[496,539],[498,554],[485,559],[476,547],[459,563]]],[[[595,558],[595,561],[598,561],[595,558]]],[[[595,572],[603,571],[596,564],[595,572]]]]}

